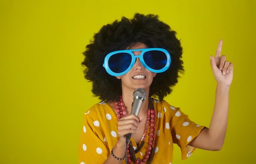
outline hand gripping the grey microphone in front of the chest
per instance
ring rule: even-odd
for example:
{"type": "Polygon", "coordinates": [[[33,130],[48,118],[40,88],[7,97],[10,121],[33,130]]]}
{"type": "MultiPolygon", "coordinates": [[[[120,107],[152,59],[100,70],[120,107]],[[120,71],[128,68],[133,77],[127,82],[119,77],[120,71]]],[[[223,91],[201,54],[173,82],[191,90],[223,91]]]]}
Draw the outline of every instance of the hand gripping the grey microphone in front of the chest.
{"type": "Polygon", "coordinates": [[[134,114],[129,114],[127,116],[123,116],[118,121],[118,135],[119,135],[119,144],[125,145],[126,134],[137,133],[137,128],[139,126],[139,118],[134,114]]]}

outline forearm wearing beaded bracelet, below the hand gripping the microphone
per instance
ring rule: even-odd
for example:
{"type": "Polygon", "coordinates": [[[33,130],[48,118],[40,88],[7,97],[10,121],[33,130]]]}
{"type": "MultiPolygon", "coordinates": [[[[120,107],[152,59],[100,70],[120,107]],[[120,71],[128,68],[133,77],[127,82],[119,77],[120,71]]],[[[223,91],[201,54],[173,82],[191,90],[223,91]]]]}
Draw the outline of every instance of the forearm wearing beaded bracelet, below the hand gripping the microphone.
{"type": "MultiPolygon", "coordinates": [[[[123,143],[117,142],[113,148],[113,154],[116,157],[122,158],[125,155],[126,145],[123,143]]],[[[108,156],[104,164],[122,164],[123,161],[115,159],[111,154],[108,156]]]]}

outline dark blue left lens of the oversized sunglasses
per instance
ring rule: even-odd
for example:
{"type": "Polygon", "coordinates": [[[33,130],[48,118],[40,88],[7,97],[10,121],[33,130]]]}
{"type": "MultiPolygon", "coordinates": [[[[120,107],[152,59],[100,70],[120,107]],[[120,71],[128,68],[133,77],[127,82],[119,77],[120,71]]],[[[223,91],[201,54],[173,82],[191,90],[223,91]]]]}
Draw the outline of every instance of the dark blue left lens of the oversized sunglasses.
{"type": "Polygon", "coordinates": [[[122,73],[128,69],[132,61],[132,56],[129,53],[116,53],[112,55],[108,60],[108,67],[114,73],[122,73]]]}

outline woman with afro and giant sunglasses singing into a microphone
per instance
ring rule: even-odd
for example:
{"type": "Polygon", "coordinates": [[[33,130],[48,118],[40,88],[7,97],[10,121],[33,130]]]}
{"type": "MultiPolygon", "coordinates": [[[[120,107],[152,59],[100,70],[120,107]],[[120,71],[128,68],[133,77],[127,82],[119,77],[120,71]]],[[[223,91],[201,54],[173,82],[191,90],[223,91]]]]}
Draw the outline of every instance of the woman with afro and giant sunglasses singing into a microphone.
{"type": "Polygon", "coordinates": [[[93,82],[93,94],[103,101],[84,114],[80,164],[125,164],[125,158],[128,163],[171,164],[173,143],[181,148],[182,159],[195,148],[221,149],[233,64],[220,56],[220,40],[216,56],[211,56],[218,83],[211,124],[209,128],[197,125],[180,108],[163,100],[178,82],[178,73],[184,71],[175,34],[158,15],[136,13],[132,20],[122,17],[120,22],[103,26],[86,46],[85,78],[93,82]],[[138,88],[145,89],[148,98],[137,117],[129,113],[138,88]],[[125,157],[129,133],[132,137],[125,157]]]}

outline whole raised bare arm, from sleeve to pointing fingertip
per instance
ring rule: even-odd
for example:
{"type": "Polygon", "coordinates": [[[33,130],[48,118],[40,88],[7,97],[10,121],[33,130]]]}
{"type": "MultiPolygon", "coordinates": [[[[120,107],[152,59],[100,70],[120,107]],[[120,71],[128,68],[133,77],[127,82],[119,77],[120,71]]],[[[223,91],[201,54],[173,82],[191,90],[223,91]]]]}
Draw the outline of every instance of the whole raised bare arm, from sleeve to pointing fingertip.
{"type": "Polygon", "coordinates": [[[224,143],[227,119],[229,89],[233,80],[233,63],[226,61],[226,56],[221,53],[222,40],[218,43],[215,57],[211,56],[211,70],[217,81],[214,110],[210,127],[204,128],[201,133],[189,143],[190,146],[220,150],[224,143]]]}

